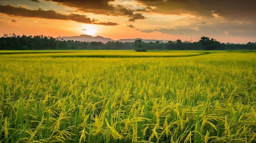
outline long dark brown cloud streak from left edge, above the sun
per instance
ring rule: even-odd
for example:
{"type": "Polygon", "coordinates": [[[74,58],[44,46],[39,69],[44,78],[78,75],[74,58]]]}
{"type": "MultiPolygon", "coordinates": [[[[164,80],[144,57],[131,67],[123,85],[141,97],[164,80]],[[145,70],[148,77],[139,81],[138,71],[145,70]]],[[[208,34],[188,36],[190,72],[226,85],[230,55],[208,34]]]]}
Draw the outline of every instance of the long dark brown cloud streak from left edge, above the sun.
{"type": "Polygon", "coordinates": [[[86,24],[101,24],[101,25],[117,25],[117,23],[112,22],[94,22],[86,15],[79,14],[69,14],[63,15],[57,13],[56,11],[43,11],[42,9],[38,10],[29,10],[22,7],[14,7],[11,5],[3,6],[0,5],[0,13],[5,13],[7,15],[20,16],[20,17],[38,17],[54,20],[72,20],[75,22],[86,23],[86,24]]]}

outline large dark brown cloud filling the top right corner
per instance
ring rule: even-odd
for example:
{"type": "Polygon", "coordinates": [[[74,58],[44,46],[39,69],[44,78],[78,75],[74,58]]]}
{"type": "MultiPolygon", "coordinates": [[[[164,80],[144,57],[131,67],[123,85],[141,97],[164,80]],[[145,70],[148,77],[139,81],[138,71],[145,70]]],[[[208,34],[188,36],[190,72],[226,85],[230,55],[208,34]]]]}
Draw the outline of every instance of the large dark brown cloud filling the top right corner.
{"type": "MultiPolygon", "coordinates": [[[[135,0],[149,7],[153,13],[164,15],[190,14],[227,20],[255,20],[255,0],[135,0]]],[[[256,20],[255,20],[256,21],[256,20]]]]}

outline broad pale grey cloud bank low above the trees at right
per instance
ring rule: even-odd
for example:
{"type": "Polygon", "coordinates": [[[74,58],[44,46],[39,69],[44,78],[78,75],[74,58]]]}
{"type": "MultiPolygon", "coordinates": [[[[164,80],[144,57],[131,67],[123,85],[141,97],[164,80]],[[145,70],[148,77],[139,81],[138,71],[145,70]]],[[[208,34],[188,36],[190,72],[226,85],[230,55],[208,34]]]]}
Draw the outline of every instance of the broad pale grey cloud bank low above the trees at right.
{"type": "MultiPolygon", "coordinates": [[[[198,22],[200,24],[200,22],[198,22]]],[[[176,26],[174,28],[155,28],[155,29],[136,29],[145,33],[161,32],[162,34],[168,35],[183,35],[183,36],[243,36],[243,37],[254,37],[256,30],[255,26],[248,23],[237,23],[237,22],[216,22],[213,24],[191,24],[189,26],[176,26]],[[195,26],[196,25],[196,26],[195,26]],[[193,27],[198,27],[194,29],[193,27]]]]}

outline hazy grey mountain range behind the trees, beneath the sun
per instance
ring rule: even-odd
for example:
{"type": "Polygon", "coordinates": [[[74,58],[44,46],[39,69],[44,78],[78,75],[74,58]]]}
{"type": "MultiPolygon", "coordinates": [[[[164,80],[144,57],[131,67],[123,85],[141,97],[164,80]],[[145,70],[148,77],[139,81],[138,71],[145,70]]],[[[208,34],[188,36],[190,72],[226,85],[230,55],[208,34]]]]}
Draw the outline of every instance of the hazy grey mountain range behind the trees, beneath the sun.
{"type": "MultiPolygon", "coordinates": [[[[119,42],[125,43],[125,42],[134,42],[135,40],[141,39],[141,38],[135,38],[135,39],[113,40],[113,39],[105,38],[105,37],[102,37],[102,36],[92,37],[90,35],[80,35],[80,36],[72,36],[72,37],[61,37],[61,36],[59,36],[58,38],[63,39],[65,41],[73,40],[73,41],[82,41],[82,42],[102,42],[102,43],[107,43],[108,41],[111,41],[111,42],[119,41],[119,42]]],[[[145,43],[150,43],[150,42],[155,43],[157,40],[141,39],[141,41],[143,41],[145,43]]]]}

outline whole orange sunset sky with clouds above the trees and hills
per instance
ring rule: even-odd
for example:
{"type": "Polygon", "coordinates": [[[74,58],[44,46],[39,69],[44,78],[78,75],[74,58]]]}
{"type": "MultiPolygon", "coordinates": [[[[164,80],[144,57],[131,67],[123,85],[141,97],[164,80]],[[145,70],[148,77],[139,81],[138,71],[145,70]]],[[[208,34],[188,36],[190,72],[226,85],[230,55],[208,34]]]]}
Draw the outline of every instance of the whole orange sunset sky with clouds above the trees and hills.
{"type": "Polygon", "coordinates": [[[255,6],[256,0],[0,0],[0,34],[248,43],[256,42],[255,6]]]}

